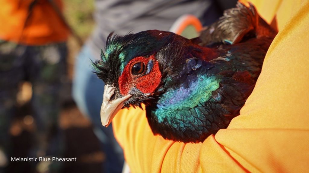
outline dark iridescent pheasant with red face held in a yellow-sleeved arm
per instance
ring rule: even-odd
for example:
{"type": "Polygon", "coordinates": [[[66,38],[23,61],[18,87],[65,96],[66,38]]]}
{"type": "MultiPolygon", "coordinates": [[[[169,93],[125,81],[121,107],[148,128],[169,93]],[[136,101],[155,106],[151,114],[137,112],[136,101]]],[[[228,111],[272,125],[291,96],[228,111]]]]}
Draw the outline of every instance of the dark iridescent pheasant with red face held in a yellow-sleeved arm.
{"type": "Polygon", "coordinates": [[[154,134],[204,141],[239,115],[275,35],[252,5],[240,3],[191,40],[159,30],[111,33],[93,62],[106,84],[102,124],[144,103],[154,134]]]}

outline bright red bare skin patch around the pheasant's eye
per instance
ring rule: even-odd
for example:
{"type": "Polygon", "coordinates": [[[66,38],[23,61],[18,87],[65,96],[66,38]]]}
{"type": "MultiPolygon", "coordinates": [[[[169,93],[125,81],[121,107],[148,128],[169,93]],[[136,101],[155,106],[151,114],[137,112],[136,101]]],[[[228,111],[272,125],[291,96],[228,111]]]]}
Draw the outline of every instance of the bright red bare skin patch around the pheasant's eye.
{"type": "Polygon", "coordinates": [[[121,95],[127,95],[133,87],[136,87],[142,93],[152,93],[159,86],[161,77],[159,62],[155,59],[154,55],[150,55],[148,58],[142,56],[133,58],[125,66],[123,73],[118,79],[120,93],[121,95]],[[146,68],[149,68],[147,64],[150,60],[152,60],[153,66],[148,74],[144,74],[145,72],[140,75],[132,74],[131,69],[134,64],[143,62],[146,68]]]}

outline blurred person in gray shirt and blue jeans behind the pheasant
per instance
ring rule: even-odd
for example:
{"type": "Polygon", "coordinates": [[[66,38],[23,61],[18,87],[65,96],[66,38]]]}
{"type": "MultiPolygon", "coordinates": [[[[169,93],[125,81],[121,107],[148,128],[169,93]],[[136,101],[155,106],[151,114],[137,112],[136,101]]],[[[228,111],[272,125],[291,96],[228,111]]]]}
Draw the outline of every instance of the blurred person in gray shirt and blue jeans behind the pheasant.
{"type": "Polygon", "coordinates": [[[112,31],[120,35],[129,31],[134,33],[154,29],[167,31],[176,19],[184,14],[199,17],[205,26],[217,20],[224,9],[234,7],[235,3],[236,1],[212,0],[95,1],[94,17],[97,26],[76,59],[73,97],[79,109],[84,115],[89,116],[94,124],[95,134],[106,154],[104,172],[121,172],[124,162],[121,147],[113,136],[112,125],[106,128],[101,124],[100,107],[104,82],[92,73],[90,61],[100,58],[108,34],[112,31]]]}

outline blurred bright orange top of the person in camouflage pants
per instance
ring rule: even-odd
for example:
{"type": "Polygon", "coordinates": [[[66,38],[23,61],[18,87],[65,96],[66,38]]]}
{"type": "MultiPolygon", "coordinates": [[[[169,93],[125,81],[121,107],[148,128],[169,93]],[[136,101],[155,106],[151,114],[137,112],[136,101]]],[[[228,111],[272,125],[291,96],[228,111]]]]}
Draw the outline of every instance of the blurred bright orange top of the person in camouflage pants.
{"type": "MultiPolygon", "coordinates": [[[[69,30],[47,0],[40,0],[34,5],[24,28],[31,2],[32,0],[0,0],[0,39],[28,45],[66,41],[69,30]]],[[[61,0],[54,2],[62,9],[61,0]]]]}

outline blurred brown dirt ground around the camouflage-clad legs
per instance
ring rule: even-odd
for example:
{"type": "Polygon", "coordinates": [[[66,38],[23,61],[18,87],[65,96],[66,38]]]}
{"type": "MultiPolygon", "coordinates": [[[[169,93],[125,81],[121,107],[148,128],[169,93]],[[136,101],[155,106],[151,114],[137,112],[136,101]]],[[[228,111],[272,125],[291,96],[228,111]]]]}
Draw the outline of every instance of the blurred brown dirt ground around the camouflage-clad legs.
{"type": "MultiPolygon", "coordinates": [[[[11,126],[12,155],[27,157],[32,145],[35,125],[32,116],[28,114],[29,111],[29,104],[20,107],[19,114],[11,126]]],[[[64,157],[77,158],[77,162],[64,162],[62,172],[100,172],[105,155],[99,149],[99,141],[89,120],[84,118],[73,102],[63,106],[59,120],[66,142],[64,157]]],[[[10,162],[8,172],[35,171],[31,170],[31,162],[10,162]]]]}

